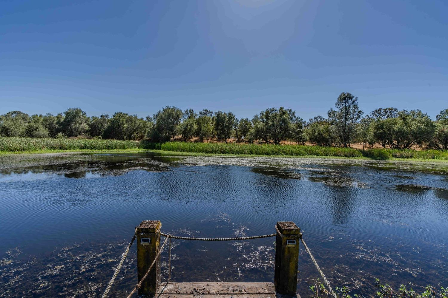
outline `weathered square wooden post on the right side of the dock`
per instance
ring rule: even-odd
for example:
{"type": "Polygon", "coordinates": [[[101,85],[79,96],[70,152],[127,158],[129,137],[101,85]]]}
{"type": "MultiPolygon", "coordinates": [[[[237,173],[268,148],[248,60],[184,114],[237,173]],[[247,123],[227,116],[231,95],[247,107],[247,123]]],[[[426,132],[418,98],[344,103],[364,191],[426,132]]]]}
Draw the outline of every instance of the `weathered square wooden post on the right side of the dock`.
{"type": "Polygon", "coordinates": [[[295,295],[300,229],[292,221],[277,222],[277,229],[274,285],[278,294],[295,295]]]}

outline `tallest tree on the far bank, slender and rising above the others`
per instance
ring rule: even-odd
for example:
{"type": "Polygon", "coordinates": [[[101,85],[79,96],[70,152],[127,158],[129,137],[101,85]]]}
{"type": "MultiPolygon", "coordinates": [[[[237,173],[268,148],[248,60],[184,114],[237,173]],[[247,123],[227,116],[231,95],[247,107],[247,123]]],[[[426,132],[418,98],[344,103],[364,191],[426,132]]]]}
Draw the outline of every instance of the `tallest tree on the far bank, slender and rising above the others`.
{"type": "Polygon", "coordinates": [[[363,112],[358,107],[358,98],[342,92],[336,101],[336,111],[328,111],[328,119],[335,128],[340,143],[347,147],[356,136],[355,125],[363,112]]]}

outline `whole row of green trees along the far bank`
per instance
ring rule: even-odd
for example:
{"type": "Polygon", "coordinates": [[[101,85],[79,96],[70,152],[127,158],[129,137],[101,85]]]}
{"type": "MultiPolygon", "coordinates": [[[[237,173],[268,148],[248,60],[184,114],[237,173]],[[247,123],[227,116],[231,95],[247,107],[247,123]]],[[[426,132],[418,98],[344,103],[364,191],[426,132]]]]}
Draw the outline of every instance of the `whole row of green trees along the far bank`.
{"type": "Polygon", "coordinates": [[[379,108],[365,116],[358,107],[358,98],[342,93],[327,117],[316,116],[308,121],[295,111],[269,108],[252,119],[237,117],[232,112],[204,109],[198,113],[165,106],[152,117],[140,118],[117,112],[88,117],[79,108],[70,108],[58,115],[28,115],[11,111],[0,116],[0,136],[27,137],[94,137],[116,140],[153,142],[203,142],[212,138],[228,142],[280,144],[289,140],[297,144],[350,147],[362,143],[384,148],[448,149],[448,109],[440,111],[436,120],[420,110],[398,111],[379,108]]]}

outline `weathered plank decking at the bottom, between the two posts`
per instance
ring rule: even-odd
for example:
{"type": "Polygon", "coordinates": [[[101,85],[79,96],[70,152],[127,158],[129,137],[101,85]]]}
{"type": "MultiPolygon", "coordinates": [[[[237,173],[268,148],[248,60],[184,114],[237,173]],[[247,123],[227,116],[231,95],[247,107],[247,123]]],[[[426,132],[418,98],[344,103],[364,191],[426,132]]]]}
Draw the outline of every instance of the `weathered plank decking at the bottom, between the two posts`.
{"type": "Polygon", "coordinates": [[[159,286],[159,298],[280,298],[272,282],[169,282],[159,286]]]}

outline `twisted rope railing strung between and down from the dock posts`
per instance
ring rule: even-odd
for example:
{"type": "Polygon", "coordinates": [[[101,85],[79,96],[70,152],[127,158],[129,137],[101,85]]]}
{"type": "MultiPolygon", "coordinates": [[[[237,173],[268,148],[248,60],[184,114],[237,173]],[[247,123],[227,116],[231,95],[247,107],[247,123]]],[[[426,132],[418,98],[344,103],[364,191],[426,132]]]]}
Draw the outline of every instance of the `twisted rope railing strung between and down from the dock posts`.
{"type": "MultiPolygon", "coordinates": [[[[132,292],[127,296],[127,298],[132,297],[132,295],[134,295],[135,291],[137,289],[139,289],[142,286],[143,281],[146,279],[146,277],[148,276],[149,272],[151,272],[151,269],[154,267],[155,262],[159,259],[165,244],[167,243],[167,241],[169,240],[169,256],[168,256],[168,282],[171,281],[171,239],[181,239],[181,240],[197,240],[197,241],[237,241],[237,240],[250,240],[250,239],[258,239],[258,238],[268,238],[268,237],[274,237],[276,236],[276,234],[268,234],[268,235],[259,235],[259,236],[248,236],[248,237],[234,237],[234,238],[195,238],[195,237],[183,237],[183,236],[174,236],[174,235],[170,235],[170,234],[164,234],[162,232],[160,232],[160,227],[161,224],[159,226],[159,229],[156,231],[156,233],[159,233],[161,236],[165,237],[165,241],[162,244],[162,246],[159,249],[159,252],[157,253],[157,255],[155,256],[155,259],[153,260],[153,262],[151,263],[151,266],[149,266],[148,270],[146,271],[145,275],[142,277],[142,279],[140,280],[140,282],[138,282],[137,285],[134,286],[134,289],[132,290],[132,292]]],[[[275,226],[276,231],[278,234],[282,234],[280,232],[280,230],[277,228],[277,226],[275,226]]],[[[328,290],[330,291],[330,294],[332,294],[333,298],[338,298],[335,291],[333,290],[330,282],[327,280],[327,277],[325,277],[325,275],[323,274],[322,270],[320,269],[319,265],[317,264],[316,259],[314,259],[313,254],[310,251],[310,248],[308,248],[308,246],[305,243],[305,240],[303,240],[303,236],[302,233],[297,234],[297,235],[289,235],[290,237],[294,237],[296,236],[297,238],[300,238],[300,240],[302,241],[303,246],[305,247],[305,251],[308,253],[308,255],[310,255],[311,260],[314,263],[314,266],[317,268],[317,271],[320,273],[320,276],[323,279],[324,284],[327,286],[328,290]]],[[[115,269],[115,272],[111,278],[111,280],[108,283],[108,286],[106,288],[106,290],[104,291],[104,294],[101,298],[106,298],[110,289],[112,288],[113,283],[115,282],[115,279],[118,275],[118,273],[120,272],[120,269],[126,259],[126,256],[129,253],[129,249],[132,246],[132,244],[134,243],[135,238],[137,237],[137,232],[134,234],[134,236],[132,237],[128,247],[126,248],[125,252],[123,253],[120,263],[118,264],[117,268],[115,269]]]]}

